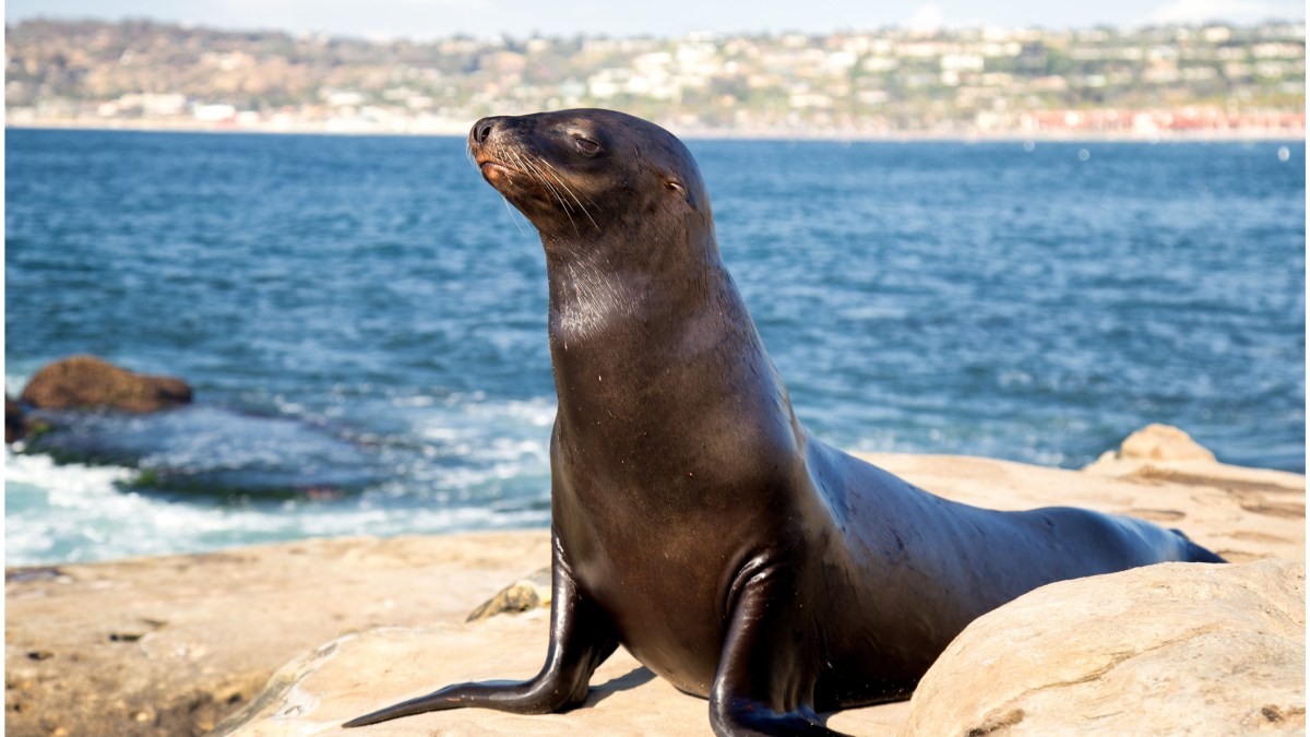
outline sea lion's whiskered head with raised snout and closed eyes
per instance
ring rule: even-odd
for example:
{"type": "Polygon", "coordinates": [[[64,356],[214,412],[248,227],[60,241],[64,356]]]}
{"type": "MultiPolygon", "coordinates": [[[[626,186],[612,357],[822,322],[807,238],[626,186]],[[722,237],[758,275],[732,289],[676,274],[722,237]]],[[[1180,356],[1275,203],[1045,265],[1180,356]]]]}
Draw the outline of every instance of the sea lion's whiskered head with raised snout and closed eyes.
{"type": "Polygon", "coordinates": [[[544,241],[713,228],[690,152],[633,115],[579,109],[482,118],[469,151],[544,241]]]}

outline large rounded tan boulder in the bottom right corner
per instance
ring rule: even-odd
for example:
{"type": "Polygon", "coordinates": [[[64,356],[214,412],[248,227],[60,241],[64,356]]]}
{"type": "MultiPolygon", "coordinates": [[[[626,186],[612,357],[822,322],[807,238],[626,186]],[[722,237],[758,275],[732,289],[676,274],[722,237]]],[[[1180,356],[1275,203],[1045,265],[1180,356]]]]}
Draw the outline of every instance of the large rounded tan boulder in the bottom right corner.
{"type": "Polygon", "coordinates": [[[912,736],[1305,732],[1305,564],[1161,564],[1043,586],[969,624],[912,736]]]}

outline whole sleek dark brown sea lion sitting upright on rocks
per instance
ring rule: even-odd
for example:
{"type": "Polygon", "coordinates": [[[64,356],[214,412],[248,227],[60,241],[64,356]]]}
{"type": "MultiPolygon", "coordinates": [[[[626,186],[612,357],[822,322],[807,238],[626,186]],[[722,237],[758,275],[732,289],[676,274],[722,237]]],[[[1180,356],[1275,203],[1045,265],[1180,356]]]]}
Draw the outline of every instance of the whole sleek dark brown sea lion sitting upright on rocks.
{"type": "Polygon", "coordinates": [[[908,696],[965,624],[1064,578],[1221,559],[1069,508],[955,504],[796,421],[715,241],[696,161],[622,113],[478,121],[483,178],[537,227],[559,409],[546,664],[345,724],[578,706],[618,645],[709,698],[719,734],[834,734],[908,696]]]}

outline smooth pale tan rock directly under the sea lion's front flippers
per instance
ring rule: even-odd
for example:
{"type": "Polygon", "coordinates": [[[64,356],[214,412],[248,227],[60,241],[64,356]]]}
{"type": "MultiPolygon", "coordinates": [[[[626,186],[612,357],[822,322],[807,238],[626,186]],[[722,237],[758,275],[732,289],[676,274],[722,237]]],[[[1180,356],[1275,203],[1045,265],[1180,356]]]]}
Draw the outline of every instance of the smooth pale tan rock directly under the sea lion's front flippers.
{"type": "MultiPolygon", "coordinates": [[[[350,633],[284,665],[214,736],[711,734],[705,699],[677,691],[622,648],[592,675],[587,702],[565,713],[455,709],[341,730],[348,719],[449,683],[531,678],[545,661],[548,629],[549,614],[534,610],[476,624],[350,633]]],[[[908,708],[901,702],[850,709],[828,724],[857,734],[891,734],[908,708]]]]}

